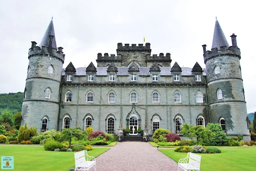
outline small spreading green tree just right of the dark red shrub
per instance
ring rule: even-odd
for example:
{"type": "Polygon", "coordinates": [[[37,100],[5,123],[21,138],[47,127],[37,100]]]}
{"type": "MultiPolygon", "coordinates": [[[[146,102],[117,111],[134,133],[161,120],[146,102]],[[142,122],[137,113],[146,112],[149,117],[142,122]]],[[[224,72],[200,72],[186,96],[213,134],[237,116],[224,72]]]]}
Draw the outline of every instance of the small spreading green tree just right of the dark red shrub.
{"type": "Polygon", "coordinates": [[[182,125],[180,134],[186,135],[190,139],[192,139],[192,137],[196,137],[197,144],[199,144],[199,141],[212,139],[214,136],[214,133],[212,133],[210,129],[207,129],[204,126],[193,126],[188,125],[187,123],[182,125]]]}

